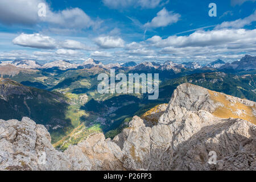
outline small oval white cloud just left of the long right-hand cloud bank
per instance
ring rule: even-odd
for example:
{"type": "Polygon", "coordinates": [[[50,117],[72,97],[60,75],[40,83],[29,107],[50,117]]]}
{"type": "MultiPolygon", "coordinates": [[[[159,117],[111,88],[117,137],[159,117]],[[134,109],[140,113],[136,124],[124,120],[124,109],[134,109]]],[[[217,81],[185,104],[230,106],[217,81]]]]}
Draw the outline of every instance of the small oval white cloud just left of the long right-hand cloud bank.
{"type": "Polygon", "coordinates": [[[113,36],[100,36],[95,39],[95,42],[101,48],[120,48],[123,47],[125,41],[121,38],[115,38],[113,36]]]}

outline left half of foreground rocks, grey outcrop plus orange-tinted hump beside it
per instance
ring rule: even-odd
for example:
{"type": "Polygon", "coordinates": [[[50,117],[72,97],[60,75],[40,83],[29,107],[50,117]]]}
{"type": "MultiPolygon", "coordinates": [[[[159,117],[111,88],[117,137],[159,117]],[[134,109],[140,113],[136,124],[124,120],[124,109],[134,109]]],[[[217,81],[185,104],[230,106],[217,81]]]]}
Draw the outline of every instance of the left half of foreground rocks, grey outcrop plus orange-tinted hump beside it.
{"type": "Polygon", "coordinates": [[[64,152],[30,118],[0,120],[0,170],[122,170],[122,151],[104,134],[90,135],[64,152]]]}

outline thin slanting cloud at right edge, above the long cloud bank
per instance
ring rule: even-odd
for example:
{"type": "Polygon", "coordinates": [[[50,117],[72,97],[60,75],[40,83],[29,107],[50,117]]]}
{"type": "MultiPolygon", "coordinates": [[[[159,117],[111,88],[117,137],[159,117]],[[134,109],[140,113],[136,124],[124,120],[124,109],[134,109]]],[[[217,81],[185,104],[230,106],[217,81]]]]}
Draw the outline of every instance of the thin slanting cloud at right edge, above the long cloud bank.
{"type": "Polygon", "coordinates": [[[256,10],[254,11],[253,14],[251,14],[250,16],[247,16],[246,18],[243,18],[243,19],[237,19],[237,20],[234,20],[232,22],[223,22],[221,24],[219,24],[218,26],[216,26],[215,28],[228,28],[228,27],[231,27],[231,28],[242,28],[246,25],[249,25],[251,24],[252,22],[255,22],[256,21],[256,10]]]}

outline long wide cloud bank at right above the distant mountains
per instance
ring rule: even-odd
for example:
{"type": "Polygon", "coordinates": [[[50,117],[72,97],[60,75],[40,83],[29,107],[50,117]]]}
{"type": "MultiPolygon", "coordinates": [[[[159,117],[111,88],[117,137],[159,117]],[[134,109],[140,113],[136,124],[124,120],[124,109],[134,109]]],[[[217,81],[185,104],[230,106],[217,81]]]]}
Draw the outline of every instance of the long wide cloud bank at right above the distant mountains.
{"type": "Polygon", "coordinates": [[[188,36],[170,36],[167,39],[153,36],[147,42],[158,49],[158,55],[168,55],[174,60],[234,60],[241,59],[241,52],[256,53],[256,30],[197,31],[188,36]]]}

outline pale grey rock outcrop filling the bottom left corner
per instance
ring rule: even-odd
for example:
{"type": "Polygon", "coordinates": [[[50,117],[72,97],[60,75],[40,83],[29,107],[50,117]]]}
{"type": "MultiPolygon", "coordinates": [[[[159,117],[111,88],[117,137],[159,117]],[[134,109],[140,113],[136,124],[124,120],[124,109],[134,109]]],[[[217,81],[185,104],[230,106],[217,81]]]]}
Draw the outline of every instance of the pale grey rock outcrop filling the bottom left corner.
{"type": "Polygon", "coordinates": [[[0,120],[0,170],[89,170],[81,150],[55,150],[43,125],[30,118],[0,120]]]}

